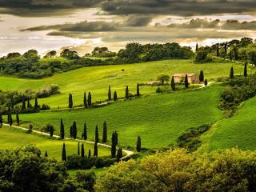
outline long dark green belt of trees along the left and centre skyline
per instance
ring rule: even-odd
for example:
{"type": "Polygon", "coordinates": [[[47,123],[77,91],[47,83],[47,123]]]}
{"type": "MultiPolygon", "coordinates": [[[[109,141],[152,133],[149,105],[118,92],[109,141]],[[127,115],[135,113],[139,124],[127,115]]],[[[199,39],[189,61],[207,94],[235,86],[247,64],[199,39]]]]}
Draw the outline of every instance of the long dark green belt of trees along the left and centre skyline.
{"type": "Polygon", "coordinates": [[[110,52],[107,47],[96,47],[91,54],[80,57],[74,50],[62,50],[60,57],[51,50],[41,59],[37,50],[28,50],[25,54],[10,53],[0,58],[0,73],[20,78],[44,78],[55,73],[78,69],[83,66],[104,66],[128,64],[133,62],[156,61],[167,58],[192,58],[190,47],[178,43],[146,44],[128,43],[118,53],[110,52]],[[97,57],[106,59],[92,59],[97,57]]]}

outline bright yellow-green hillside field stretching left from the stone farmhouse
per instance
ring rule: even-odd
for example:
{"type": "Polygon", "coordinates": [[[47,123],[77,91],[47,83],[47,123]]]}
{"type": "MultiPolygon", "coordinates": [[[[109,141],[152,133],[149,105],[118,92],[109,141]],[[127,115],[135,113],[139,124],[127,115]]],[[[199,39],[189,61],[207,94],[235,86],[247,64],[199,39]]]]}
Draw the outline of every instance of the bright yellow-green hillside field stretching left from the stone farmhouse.
{"type": "MultiPolygon", "coordinates": [[[[43,62],[43,61],[42,61],[43,62]]],[[[138,82],[154,81],[160,73],[197,73],[204,71],[205,78],[226,77],[230,74],[231,63],[194,64],[191,60],[166,60],[159,62],[142,62],[130,65],[95,66],[72,70],[64,74],[55,74],[53,77],[39,80],[20,79],[1,76],[0,90],[39,90],[52,84],[58,84],[62,94],[50,98],[39,99],[39,104],[46,103],[51,108],[67,107],[68,95],[73,95],[74,106],[82,104],[83,93],[91,91],[93,101],[107,98],[108,86],[118,91],[118,97],[123,97],[125,87],[128,85],[130,92],[135,93],[138,82]],[[124,70],[124,71],[122,71],[124,70]]],[[[234,73],[240,74],[243,66],[234,65],[234,73]]],[[[156,87],[142,86],[142,94],[155,93],[156,87]]],[[[32,101],[33,103],[33,101],[32,101]]]]}

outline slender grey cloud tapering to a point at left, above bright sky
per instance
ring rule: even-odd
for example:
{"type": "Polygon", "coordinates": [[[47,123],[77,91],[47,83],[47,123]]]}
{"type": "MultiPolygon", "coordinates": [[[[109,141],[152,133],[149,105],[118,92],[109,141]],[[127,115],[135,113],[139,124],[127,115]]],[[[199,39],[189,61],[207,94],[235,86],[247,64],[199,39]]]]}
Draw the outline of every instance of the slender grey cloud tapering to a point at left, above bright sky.
{"type": "MultiPolygon", "coordinates": [[[[78,23],[67,23],[63,25],[54,26],[37,26],[26,30],[37,31],[37,30],[59,30],[59,31],[70,31],[70,32],[90,32],[90,31],[111,31],[117,30],[116,24],[113,22],[78,22],[78,23]]],[[[22,30],[25,31],[25,30],[22,30]]]]}

